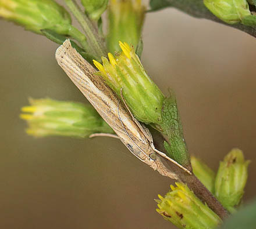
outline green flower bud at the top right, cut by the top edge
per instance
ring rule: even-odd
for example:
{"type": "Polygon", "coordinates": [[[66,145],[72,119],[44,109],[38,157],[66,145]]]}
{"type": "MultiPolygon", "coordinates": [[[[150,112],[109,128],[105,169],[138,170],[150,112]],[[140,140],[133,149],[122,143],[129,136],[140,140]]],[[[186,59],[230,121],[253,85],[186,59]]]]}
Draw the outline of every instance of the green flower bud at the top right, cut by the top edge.
{"type": "Polygon", "coordinates": [[[204,5],[228,24],[240,23],[243,17],[251,15],[246,0],[204,0],[204,5]]]}

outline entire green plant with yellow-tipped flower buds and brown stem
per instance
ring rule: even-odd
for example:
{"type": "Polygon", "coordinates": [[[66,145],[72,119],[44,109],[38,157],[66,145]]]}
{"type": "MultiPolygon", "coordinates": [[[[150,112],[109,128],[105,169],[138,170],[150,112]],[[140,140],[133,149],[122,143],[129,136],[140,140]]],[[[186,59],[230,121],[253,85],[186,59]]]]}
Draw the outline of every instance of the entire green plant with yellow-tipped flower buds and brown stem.
{"type": "MultiPolygon", "coordinates": [[[[186,173],[176,165],[170,166],[169,170],[179,182],[156,200],[157,212],[164,219],[179,228],[221,225],[230,213],[237,211],[249,162],[241,150],[233,149],[220,162],[215,174],[200,159],[190,157],[175,94],[170,92],[165,96],[140,61],[141,30],[147,12],[143,3],[140,0],[81,0],[80,5],[74,0],[63,2],[66,9],[54,0],[0,0],[0,16],[60,45],[70,39],[72,47],[99,70],[93,74],[100,76],[125,103],[134,122],[145,125],[141,131],[151,131],[156,146],[165,152],[163,160],[169,157],[190,171],[186,173]],[[106,34],[102,31],[105,10],[108,13],[106,34]],[[83,31],[73,26],[70,13],[83,31]]],[[[151,0],[150,6],[151,11],[172,6],[193,16],[220,19],[232,26],[241,23],[237,28],[250,34],[255,31],[255,0],[151,0]]],[[[86,138],[101,134],[117,137],[93,106],[73,101],[30,99],[30,106],[22,108],[20,118],[28,123],[27,133],[36,137],[86,138]]],[[[155,157],[150,159],[154,161],[155,157]]]]}

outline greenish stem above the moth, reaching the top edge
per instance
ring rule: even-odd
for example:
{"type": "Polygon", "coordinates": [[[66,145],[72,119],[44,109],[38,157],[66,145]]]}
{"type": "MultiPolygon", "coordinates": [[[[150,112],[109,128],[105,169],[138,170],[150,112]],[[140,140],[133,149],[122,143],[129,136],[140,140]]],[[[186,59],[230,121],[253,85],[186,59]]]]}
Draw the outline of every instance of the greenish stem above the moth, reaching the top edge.
{"type": "Polygon", "coordinates": [[[81,11],[74,0],[65,0],[65,2],[74,17],[79,21],[84,32],[86,32],[88,52],[92,53],[97,60],[101,61],[101,56],[106,56],[104,39],[99,36],[97,28],[94,27],[94,23],[81,11]]]}

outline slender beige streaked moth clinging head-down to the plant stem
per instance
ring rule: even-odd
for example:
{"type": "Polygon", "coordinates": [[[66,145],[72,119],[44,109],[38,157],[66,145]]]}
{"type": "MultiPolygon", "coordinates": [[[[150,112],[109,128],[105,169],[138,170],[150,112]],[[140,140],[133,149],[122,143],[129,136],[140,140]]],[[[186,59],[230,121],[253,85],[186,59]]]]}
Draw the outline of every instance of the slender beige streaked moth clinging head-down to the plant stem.
{"type": "MultiPolygon", "coordinates": [[[[155,149],[150,131],[136,121],[127,110],[126,104],[104,83],[99,75],[95,74],[96,70],[72,47],[69,39],[59,46],[55,57],[59,66],[133,155],[161,175],[178,179],[177,175],[166,168],[161,161],[161,157],[168,157],[155,149]]],[[[173,162],[175,163],[175,161],[173,162]]],[[[176,165],[191,174],[177,162],[176,165]]]]}

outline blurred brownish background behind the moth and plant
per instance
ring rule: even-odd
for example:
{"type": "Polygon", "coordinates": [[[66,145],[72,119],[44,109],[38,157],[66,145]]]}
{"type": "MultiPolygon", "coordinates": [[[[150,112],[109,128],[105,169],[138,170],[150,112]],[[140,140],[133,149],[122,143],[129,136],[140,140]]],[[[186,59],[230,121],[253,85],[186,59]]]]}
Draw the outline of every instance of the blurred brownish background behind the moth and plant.
{"type": "MultiPolygon", "coordinates": [[[[55,60],[55,43],[0,20],[0,228],[175,228],[155,212],[173,183],[119,140],[34,139],[28,98],[87,103],[55,60]]],[[[175,9],[148,13],[142,62],[176,92],[190,154],[218,168],[232,148],[251,159],[244,202],[255,195],[256,39],[175,9]]]]}

